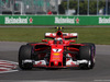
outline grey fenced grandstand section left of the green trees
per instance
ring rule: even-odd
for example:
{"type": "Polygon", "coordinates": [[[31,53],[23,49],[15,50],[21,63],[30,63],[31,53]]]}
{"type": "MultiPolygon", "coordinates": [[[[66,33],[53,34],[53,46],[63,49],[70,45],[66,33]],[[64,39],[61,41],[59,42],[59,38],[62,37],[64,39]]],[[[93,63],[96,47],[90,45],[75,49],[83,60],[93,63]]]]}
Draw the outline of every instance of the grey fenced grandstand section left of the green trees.
{"type": "Polygon", "coordinates": [[[58,13],[58,0],[0,0],[0,14],[58,13]]]}

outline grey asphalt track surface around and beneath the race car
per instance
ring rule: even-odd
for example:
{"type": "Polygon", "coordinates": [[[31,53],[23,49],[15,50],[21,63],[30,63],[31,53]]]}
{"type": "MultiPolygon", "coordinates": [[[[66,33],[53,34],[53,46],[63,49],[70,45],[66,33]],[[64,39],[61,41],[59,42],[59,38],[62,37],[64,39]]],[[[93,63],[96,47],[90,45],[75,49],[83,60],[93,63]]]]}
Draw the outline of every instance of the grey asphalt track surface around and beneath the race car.
{"type": "MultiPolygon", "coordinates": [[[[0,42],[0,60],[18,62],[19,47],[26,43],[0,42]]],[[[97,45],[96,67],[92,70],[34,68],[30,71],[0,73],[0,82],[110,82],[110,46],[97,45]]]]}

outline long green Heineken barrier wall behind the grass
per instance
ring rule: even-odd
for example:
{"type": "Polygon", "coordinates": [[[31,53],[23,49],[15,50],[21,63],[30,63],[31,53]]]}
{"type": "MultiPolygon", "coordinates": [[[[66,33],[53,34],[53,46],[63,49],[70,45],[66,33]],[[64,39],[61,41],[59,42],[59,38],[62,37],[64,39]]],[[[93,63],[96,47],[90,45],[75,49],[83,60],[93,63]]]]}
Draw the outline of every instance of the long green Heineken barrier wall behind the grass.
{"type": "Polygon", "coordinates": [[[110,16],[106,15],[0,15],[1,25],[110,25],[110,16]]]}

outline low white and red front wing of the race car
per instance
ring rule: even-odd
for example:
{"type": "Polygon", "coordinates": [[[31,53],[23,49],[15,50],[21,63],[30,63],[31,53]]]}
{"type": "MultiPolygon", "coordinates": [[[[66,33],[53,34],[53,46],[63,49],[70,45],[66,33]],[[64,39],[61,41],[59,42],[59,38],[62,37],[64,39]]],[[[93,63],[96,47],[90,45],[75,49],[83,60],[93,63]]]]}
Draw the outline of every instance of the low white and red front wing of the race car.
{"type": "Polygon", "coordinates": [[[23,60],[23,63],[32,63],[33,67],[40,67],[40,68],[68,68],[68,67],[79,67],[79,65],[81,63],[89,63],[88,66],[90,66],[90,61],[88,60],[76,60],[76,61],[73,61],[72,59],[70,60],[67,60],[66,61],[66,66],[47,66],[47,62],[46,60],[38,60],[38,61],[35,61],[35,60],[23,60]]]}

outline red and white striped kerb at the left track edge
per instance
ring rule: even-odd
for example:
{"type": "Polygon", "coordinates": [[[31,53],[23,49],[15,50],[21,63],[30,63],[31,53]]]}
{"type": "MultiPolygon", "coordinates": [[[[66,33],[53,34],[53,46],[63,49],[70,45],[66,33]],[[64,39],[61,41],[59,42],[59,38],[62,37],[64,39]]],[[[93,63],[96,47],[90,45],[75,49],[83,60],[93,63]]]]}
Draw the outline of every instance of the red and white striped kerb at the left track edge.
{"type": "Polygon", "coordinates": [[[18,62],[0,60],[0,73],[15,72],[18,62]]]}

